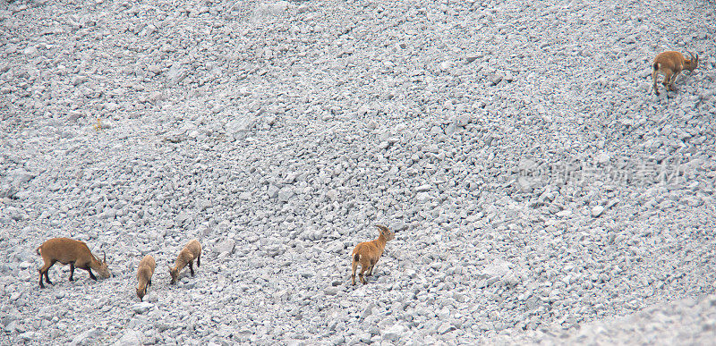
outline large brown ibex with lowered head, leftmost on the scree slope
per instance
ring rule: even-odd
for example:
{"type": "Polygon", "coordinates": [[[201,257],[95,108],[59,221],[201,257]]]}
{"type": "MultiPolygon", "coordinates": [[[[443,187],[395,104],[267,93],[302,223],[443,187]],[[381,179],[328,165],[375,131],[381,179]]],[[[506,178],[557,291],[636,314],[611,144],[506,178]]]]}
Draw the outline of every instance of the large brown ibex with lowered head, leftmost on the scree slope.
{"type": "Polygon", "coordinates": [[[35,249],[35,252],[42,257],[45,265],[39,268],[39,287],[45,288],[45,284],[42,283],[42,276],[45,275],[45,280],[50,283],[50,277],[47,271],[55,262],[60,262],[63,265],[70,265],[70,281],[72,281],[72,274],[74,274],[74,268],[86,270],[90,273],[90,278],[97,281],[95,274],[92,274],[92,269],[96,270],[99,277],[106,279],[111,275],[109,268],[107,268],[107,254],[105,258],[100,262],[97,257],[92,255],[90,248],[84,241],[75,241],[69,238],[53,238],[45,241],[35,249]]]}

